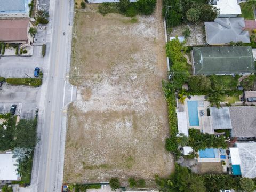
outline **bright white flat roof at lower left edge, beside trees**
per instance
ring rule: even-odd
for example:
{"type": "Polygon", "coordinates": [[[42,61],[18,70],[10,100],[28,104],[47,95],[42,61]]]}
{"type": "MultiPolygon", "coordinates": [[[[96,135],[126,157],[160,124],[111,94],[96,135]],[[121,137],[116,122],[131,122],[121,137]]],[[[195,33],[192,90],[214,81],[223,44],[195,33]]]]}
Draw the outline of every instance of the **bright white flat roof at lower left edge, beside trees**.
{"type": "Polygon", "coordinates": [[[17,180],[17,158],[12,158],[12,153],[0,154],[0,180],[17,180]]]}

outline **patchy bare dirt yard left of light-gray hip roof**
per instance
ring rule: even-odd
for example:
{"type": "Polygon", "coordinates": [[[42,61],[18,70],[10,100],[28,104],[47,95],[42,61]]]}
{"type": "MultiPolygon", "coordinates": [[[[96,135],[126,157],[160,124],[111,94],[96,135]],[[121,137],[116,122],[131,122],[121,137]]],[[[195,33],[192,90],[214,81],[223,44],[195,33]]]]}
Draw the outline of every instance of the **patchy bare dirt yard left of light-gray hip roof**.
{"type": "Polygon", "coordinates": [[[182,24],[179,26],[175,26],[168,30],[168,36],[183,36],[183,31],[188,27],[191,31],[190,37],[186,39],[186,46],[195,46],[195,45],[205,45],[206,37],[204,30],[204,23],[198,23],[197,25],[191,24],[182,24]]]}

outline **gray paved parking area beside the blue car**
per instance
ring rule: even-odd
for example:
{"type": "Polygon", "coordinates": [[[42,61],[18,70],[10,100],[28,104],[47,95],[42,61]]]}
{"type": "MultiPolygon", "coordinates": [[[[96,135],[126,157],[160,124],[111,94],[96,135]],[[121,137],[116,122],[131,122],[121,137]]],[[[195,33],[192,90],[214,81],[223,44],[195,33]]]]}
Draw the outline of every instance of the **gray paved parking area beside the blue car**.
{"type": "Polygon", "coordinates": [[[46,66],[43,65],[44,58],[41,55],[42,46],[34,46],[31,57],[0,57],[0,76],[10,77],[34,77],[35,67],[47,73],[46,66]],[[27,75],[28,76],[27,76],[27,75]]]}

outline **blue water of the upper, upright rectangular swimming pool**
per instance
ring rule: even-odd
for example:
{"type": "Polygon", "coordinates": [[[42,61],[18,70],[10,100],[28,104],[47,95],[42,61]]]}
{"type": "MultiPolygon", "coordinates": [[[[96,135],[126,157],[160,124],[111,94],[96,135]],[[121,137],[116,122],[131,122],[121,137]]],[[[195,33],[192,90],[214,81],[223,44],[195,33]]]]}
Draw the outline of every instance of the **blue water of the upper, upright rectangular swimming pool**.
{"type": "Polygon", "coordinates": [[[199,126],[198,101],[188,101],[188,118],[190,126],[199,126]]]}

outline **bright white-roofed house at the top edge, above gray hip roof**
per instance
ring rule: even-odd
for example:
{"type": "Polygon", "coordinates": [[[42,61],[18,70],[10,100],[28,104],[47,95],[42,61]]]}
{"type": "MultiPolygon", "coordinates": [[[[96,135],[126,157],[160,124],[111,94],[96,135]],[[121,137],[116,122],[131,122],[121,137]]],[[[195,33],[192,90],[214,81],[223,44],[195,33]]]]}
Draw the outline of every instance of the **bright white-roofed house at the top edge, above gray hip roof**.
{"type": "Polygon", "coordinates": [[[212,0],[210,4],[220,10],[218,17],[237,17],[242,14],[237,0],[212,0]]]}

